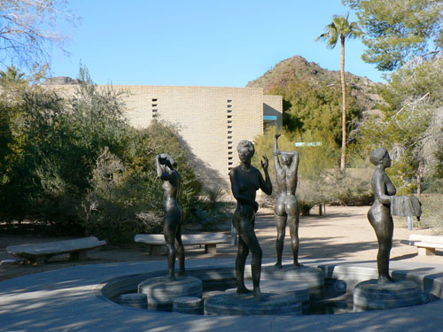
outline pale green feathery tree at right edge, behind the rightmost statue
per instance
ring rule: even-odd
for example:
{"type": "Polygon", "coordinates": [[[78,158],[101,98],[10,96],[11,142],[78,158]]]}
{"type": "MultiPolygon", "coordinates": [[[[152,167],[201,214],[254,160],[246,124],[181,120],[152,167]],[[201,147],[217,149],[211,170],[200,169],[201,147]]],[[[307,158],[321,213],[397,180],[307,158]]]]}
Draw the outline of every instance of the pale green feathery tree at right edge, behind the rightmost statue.
{"type": "Polygon", "coordinates": [[[438,176],[443,138],[443,58],[420,60],[392,73],[380,89],[383,119],[366,119],[359,141],[367,154],[385,146],[394,162],[388,173],[400,194],[420,190],[420,181],[438,176]]]}

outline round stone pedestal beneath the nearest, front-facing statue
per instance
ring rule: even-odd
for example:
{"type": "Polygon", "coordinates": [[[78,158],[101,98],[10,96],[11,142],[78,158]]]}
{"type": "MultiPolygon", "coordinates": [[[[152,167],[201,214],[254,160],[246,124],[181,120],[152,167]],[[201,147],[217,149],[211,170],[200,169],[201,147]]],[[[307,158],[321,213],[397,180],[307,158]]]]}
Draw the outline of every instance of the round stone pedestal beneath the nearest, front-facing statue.
{"type": "Polygon", "coordinates": [[[299,315],[301,302],[293,295],[266,294],[260,298],[252,294],[221,294],[205,301],[206,315],[299,315]]]}

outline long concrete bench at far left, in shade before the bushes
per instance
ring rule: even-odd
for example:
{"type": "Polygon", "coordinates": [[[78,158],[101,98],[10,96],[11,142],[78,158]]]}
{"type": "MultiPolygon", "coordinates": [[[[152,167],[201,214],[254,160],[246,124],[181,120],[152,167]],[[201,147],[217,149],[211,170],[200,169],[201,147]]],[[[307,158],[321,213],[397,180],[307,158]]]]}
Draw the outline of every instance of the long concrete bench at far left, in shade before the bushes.
{"type": "Polygon", "coordinates": [[[98,241],[97,237],[89,236],[74,240],[11,245],[6,251],[16,257],[27,259],[30,264],[43,264],[52,256],[65,253],[69,253],[70,260],[84,259],[86,251],[105,244],[106,241],[98,241]]]}

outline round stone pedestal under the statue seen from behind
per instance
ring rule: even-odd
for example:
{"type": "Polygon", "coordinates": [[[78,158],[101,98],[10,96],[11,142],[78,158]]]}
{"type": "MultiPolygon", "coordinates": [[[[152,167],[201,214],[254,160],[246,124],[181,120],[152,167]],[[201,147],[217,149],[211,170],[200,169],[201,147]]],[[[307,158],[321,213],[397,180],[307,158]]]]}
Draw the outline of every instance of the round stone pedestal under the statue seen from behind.
{"type": "MultiPolygon", "coordinates": [[[[321,268],[311,266],[263,266],[261,268],[261,281],[290,281],[307,284],[310,297],[319,298],[323,296],[324,272],[321,268]]],[[[261,282],[260,282],[261,284],[261,282]]]]}

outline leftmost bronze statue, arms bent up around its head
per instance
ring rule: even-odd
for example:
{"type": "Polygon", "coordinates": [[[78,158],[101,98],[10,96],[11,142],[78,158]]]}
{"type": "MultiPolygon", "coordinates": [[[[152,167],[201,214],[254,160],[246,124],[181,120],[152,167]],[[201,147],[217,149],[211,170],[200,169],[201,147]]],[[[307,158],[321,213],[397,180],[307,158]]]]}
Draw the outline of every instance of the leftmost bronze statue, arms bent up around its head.
{"type": "Polygon", "coordinates": [[[184,249],[182,243],[183,210],[178,202],[182,179],[175,170],[177,163],[167,153],[156,157],[157,175],[163,180],[163,202],[165,216],[163,218],[163,235],[167,246],[167,265],[169,279],[175,280],[175,256],[180,264],[179,274],[184,275],[184,249]]]}

